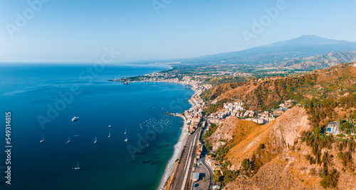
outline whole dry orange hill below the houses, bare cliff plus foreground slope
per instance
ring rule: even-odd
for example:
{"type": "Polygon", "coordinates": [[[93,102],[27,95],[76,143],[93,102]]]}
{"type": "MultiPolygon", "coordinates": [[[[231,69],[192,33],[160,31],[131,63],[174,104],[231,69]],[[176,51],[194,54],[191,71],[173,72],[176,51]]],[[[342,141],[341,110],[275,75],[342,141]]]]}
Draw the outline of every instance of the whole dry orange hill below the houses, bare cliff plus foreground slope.
{"type": "MultiPolygon", "coordinates": [[[[326,172],[330,172],[328,168],[337,172],[337,189],[355,189],[352,184],[356,183],[356,143],[334,139],[328,149],[329,145],[324,148],[320,145],[317,150],[320,153],[315,153],[320,157],[316,155],[314,163],[310,164],[308,157],[314,154],[308,138],[313,136],[305,135],[305,131],[310,130],[313,127],[309,125],[308,113],[298,106],[267,125],[229,117],[210,137],[215,149],[219,146],[216,158],[224,157],[221,160],[228,163],[229,170],[239,171],[238,177],[224,189],[323,189],[320,181],[324,179],[325,168],[326,172]],[[344,164],[339,157],[339,142],[346,144],[341,152],[351,152],[349,164],[344,164]],[[222,154],[222,149],[229,151],[222,154]],[[251,171],[244,171],[242,163],[246,159],[251,171]]],[[[225,169],[224,175],[228,174],[225,169]]]]}

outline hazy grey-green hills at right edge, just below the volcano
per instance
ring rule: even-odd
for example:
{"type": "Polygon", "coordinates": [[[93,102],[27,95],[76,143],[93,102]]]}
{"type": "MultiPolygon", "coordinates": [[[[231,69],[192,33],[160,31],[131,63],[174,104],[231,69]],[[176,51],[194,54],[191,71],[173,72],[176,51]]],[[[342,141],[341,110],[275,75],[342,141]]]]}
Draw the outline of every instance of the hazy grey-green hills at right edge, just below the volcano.
{"type": "Polygon", "coordinates": [[[281,63],[280,67],[295,68],[300,70],[315,70],[318,68],[329,68],[338,63],[350,63],[356,61],[356,51],[331,52],[320,56],[312,56],[297,60],[288,60],[281,63]]]}

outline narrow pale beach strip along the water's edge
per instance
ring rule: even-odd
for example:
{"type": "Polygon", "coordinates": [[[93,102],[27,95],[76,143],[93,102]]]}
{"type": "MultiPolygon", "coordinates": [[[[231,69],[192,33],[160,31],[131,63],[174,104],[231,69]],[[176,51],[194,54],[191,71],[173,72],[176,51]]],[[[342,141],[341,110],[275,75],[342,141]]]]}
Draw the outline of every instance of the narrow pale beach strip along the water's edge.
{"type": "MultiPolygon", "coordinates": [[[[152,82],[164,82],[164,81],[152,81],[152,82]]],[[[164,82],[167,83],[167,82],[164,82]]],[[[184,83],[180,83],[180,84],[184,84],[184,83]]],[[[184,84],[186,85],[186,84],[184,84]]],[[[189,86],[190,89],[194,90],[194,94],[197,93],[197,90],[192,88],[191,86],[189,86]]],[[[191,98],[189,98],[188,102],[190,103],[190,105],[192,105],[192,107],[195,105],[194,102],[191,100],[191,98]]],[[[178,117],[181,117],[184,120],[184,124],[182,127],[182,133],[179,136],[178,142],[177,144],[174,144],[174,152],[173,155],[171,157],[171,159],[169,159],[166,168],[164,169],[164,173],[161,176],[161,179],[159,180],[159,186],[157,186],[157,190],[164,190],[167,186],[167,182],[169,181],[169,179],[171,178],[174,168],[175,168],[175,161],[178,159],[179,155],[182,152],[182,148],[184,146],[184,144],[186,144],[187,139],[188,139],[188,133],[187,133],[187,118],[184,115],[181,114],[177,114],[178,117]]]]}

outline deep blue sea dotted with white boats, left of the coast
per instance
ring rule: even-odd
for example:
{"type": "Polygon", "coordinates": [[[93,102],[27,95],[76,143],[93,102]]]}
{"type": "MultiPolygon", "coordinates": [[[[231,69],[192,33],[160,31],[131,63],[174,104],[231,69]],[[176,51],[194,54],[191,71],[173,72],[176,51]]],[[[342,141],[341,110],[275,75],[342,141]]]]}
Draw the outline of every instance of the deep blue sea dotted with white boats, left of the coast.
{"type": "Polygon", "coordinates": [[[194,92],[176,83],[108,80],[164,69],[0,65],[0,189],[156,189],[183,125],[164,113],[188,110],[194,92]],[[5,183],[5,112],[11,112],[11,185],[5,183]]]}

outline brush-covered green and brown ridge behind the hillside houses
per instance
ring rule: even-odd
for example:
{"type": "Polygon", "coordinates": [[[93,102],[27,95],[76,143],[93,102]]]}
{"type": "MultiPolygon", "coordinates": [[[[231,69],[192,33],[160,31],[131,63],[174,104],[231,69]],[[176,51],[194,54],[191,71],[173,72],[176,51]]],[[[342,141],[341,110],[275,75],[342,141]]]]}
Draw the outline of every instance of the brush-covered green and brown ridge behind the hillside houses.
{"type": "Polygon", "coordinates": [[[277,107],[283,100],[302,102],[310,97],[338,98],[356,92],[355,63],[342,63],[332,68],[314,70],[304,75],[263,78],[243,83],[227,83],[206,90],[201,97],[212,111],[219,100],[242,100],[251,110],[277,107]]]}

